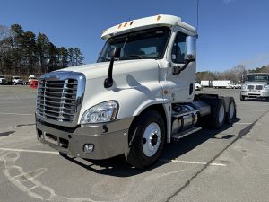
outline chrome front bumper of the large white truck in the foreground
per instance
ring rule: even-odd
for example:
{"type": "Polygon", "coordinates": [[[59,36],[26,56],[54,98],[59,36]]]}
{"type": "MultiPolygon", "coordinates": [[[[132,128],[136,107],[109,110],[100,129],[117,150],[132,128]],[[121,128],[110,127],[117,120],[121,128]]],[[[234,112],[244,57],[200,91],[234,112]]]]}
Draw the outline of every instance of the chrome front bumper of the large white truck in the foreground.
{"type": "Polygon", "coordinates": [[[84,159],[107,159],[124,154],[128,149],[128,129],[133,117],[88,127],[60,127],[37,119],[37,136],[60,153],[84,159]],[[94,145],[85,152],[84,145],[94,145]]]}

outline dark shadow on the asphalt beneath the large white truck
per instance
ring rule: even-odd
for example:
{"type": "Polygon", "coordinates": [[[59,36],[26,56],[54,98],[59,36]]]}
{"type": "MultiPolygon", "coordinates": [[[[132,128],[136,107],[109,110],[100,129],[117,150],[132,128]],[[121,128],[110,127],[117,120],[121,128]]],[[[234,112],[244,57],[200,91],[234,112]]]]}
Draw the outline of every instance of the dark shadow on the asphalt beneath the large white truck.
{"type": "MultiPolygon", "coordinates": [[[[238,122],[240,119],[236,119],[238,122]]],[[[178,158],[182,154],[187,154],[191,150],[195,149],[198,145],[202,145],[209,139],[218,138],[216,135],[220,134],[222,131],[227,130],[232,127],[232,124],[227,124],[221,127],[219,130],[203,129],[192,135],[185,136],[179,140],[172,141],[164,147],[160,159],[165,159],[166,161],[157,161],[151,167],[147,169],[136,169],[126,162],[124,155],[118,155],[107,160],[82,160],[75,157],[70,157],[62,154],[66,160],[76,163],[83,168],[93,171],[102,175],[110,175],[115,177],[130,177],[134,175],[141,174],[143,172],[152,171],[161,167],[164,164],[170,163],[169,161],[178,158]]],[[[230,139],[234,135],[222,136],[221,139],[230,139]]]]}

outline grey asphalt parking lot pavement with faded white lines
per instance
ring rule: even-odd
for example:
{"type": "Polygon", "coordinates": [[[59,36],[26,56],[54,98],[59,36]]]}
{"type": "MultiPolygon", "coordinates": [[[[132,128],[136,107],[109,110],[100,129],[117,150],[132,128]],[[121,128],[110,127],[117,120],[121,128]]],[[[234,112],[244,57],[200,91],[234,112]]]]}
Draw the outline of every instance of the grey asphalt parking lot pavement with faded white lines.
{"type": "Polygon", "coordinates": [[[147,170],[124,156],[85,161],[37,141],[36,92],[0,86],[0,201],[268,201],[269,102],[239,101],[238,119],[166,145],[147,170]]]}

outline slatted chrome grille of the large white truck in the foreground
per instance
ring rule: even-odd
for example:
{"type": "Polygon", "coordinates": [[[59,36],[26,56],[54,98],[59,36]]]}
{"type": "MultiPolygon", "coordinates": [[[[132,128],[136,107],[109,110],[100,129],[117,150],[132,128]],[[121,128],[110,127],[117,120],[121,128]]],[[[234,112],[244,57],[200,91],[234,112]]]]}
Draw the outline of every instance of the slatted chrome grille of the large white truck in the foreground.
{"type": "Polygon", "coordinates": [[[37,114],[46,119],[72,122],[76,110],[78,81],[39,80],[37,114]]]}

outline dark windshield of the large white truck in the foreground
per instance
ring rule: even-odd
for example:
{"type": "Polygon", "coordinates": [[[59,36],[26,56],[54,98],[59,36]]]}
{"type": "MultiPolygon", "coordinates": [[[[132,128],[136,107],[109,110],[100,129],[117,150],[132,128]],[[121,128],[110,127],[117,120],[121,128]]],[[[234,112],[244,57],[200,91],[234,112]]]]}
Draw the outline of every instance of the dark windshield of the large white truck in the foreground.
{"type": "Polygon", "coordinates": [[[109,61],[108,52],[121,48],[120,60],[155,59],[163,56],[170,30],[168,27],[134,31],[107,40],[97,62],[109,61]]]}

